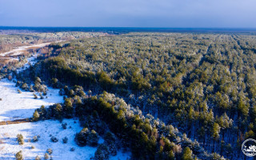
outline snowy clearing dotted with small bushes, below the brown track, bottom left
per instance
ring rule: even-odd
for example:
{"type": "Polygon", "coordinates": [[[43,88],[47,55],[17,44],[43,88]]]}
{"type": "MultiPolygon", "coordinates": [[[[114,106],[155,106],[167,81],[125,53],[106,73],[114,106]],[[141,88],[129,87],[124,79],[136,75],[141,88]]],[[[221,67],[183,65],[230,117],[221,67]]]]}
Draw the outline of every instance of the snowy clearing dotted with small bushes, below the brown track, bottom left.
{"type": "MultiPolygon", "coordinates": [[[[82,130],[78,121],[65,119],[63,122],[68,124],[66,130],[62,129],[60,122],[53,120],[0,126],[0,159],[13,160],[14,154],[19,150],[22,150],[24,159],[34,159],[37,155],[43,159],[43,155],[48,148],[53,150],[52,156],[56,160],[86,160],[93,157],[94,152],[97,150],[96,147],[79,147],[74,142],[74,134],[82,130]],[[25,139],[24,145],[18,145],[17,134],[23,135],[25,139]],[[58,142],[51,142],[50,134],[58,138],[58,142]],[[41,137],[38,142],[28,142],[28,139],[32,139],[35,135],[40,135],[41,137]],[[62,142],[62,138],[65,136],[68,138],[66,144],[62,142]],[[31,146],[34,146],[34,149],[31,149],[31,146]],[[75,150],[70,151],[71,147],[74,147],[75,150]]],[[[102,138],[99,142],[103,142],[102,138]]],[[[110,159],[126,160],[127,157],[128,154],[123,154],[119,151],[117,156],[110,157],[110,159]]]]}

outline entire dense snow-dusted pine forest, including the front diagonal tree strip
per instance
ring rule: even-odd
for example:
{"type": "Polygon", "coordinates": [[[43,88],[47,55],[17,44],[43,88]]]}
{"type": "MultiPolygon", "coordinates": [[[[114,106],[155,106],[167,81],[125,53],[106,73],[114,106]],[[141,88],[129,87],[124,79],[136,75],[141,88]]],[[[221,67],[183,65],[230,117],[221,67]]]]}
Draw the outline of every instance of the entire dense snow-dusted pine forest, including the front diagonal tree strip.
{"type": "Polygon", "coordinates": [[[130,33],[42,50],[13,77],[66,99],[36,120],[77,116],[100,134],[93,116],[138,159],[246,159],[242,142],[256,138],[255,35],[130,33]]]}

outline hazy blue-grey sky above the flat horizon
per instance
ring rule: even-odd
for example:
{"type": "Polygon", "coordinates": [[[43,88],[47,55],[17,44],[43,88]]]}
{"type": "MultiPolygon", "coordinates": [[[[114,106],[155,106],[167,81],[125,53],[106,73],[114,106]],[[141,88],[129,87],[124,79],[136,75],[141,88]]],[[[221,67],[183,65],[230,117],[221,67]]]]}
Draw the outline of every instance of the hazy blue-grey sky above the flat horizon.
{"type": "Polygon", "coordinates": [[[256,0],[0,0],[0,26],[256,28],[256,0]]]}

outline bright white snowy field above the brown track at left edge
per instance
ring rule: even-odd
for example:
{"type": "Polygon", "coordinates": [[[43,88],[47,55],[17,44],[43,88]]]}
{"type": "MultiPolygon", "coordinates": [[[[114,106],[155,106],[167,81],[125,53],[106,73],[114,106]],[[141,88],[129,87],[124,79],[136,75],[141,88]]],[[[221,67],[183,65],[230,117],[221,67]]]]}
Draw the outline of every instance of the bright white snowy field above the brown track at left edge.
{"type": "MultiPolygon", "coordinates": [[[[54,103],[63,102],[62,96],[58,95],[58,90],[48,87],[47,97],[34,99],[33,92],[22,90],[18,94],[18,87],[14,82],[6,78],[0,81],[0,121],[9,121],[21,118],[32,117],[34,110],[40,106],[50,106],[54,103]]],[[[20,89],[21,90],[21,89],[20,89]]],[[[37,93],[38,94],[38,93],[37,93]]]]}

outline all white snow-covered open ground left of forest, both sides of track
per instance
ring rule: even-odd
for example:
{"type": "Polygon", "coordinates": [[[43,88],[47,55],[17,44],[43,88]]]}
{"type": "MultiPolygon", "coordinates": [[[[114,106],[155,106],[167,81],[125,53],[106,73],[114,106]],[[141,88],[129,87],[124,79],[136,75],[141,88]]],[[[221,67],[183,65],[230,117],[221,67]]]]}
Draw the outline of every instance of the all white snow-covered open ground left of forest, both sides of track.
{"type": "MultiPolygon", "coordinates": [[[[24,67],[18,69],[20,72],[29,67],[29,62],[34,65],[34,59],[37,54],[34,54],[31,58],[28,58],[28,62],[24,67]]],[[[59,96],[58,90],[48,87],[47,98],[34,99],[32,92],[22,90],[22,93],[18,93],[18,87],[15,87],[15,83],[4,78],[0,81],[0,122],[30,118],[32,117],[34,110],[40,106],[50,106],[54,103],[63,102],[62,96],[59,96]]],[[[14,154],[19,150],[22,150],[24,159],[34,159],[37,155],[43,159],[44,154],[48,148],[53,150],[54,160],[80,160],[90,159],[94,156],[97,147],[77,146],[74,142],[74,134],[82,130],[79,126],[78,120],[64,119],[67,129],[62,129],[62,124],[54,120],[46,120],[39,122],[25,122],[20,124],[11,124],[0,126],[0,159],[8,160],[15,159],[14,154]],[[75,122],[74,122],[75,121],[75,122]],[[24,145],[18,145],[16,140],[17,134],[22,134],[25,139],[24,145]],[[58,138],[58,142],[50,141],[50,134],[58,138]],[[38,142],[29,142],[35,135],[40,135],[38,142]],[[69,140],[66,144],[62,142],[62,138],[67,137],[69,140]],[[31,149],[34,146],[34,149],[31,149]],[[74,147],[74,151],[70,151],[70,148],[74,147]]],[[[100,138],[99,143],[104,142],[100,138]]],[[[118,150],[118,154],[110,159],[118,160],[130,158],[130,153],[122,153],[118,150]]]]}

